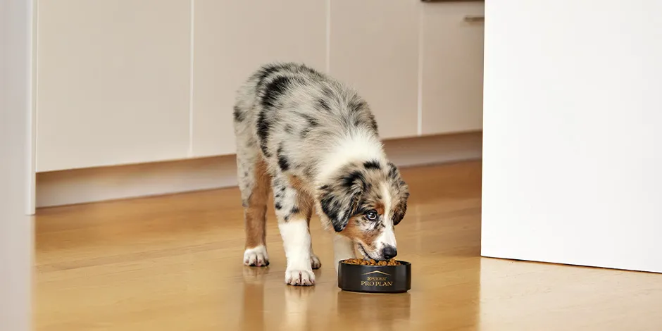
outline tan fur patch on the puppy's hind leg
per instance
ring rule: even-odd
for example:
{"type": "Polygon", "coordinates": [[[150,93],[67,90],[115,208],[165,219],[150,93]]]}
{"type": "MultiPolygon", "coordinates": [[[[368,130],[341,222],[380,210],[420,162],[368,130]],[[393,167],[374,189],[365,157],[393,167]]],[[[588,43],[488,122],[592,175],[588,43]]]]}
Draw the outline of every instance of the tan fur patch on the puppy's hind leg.
{"type": "Polygon", "coordinates": [[[269,198],[269,175],[266,163],[260,159],[255,167],[255,185],[249,197],[249,206],[244,209],[246,222],[246,249],[264,245],[267,201],[269,198]]]}

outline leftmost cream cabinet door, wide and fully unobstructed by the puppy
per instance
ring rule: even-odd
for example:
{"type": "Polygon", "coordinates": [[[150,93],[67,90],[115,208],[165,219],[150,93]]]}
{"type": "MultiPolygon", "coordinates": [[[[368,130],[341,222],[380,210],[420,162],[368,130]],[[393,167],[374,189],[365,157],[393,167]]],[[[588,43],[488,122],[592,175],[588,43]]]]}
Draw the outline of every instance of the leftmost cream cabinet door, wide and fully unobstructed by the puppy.
{"type": "Polygon", "coordinates": [[[37,171],[184,158],[188,0],[40,0],[37,171]]]}

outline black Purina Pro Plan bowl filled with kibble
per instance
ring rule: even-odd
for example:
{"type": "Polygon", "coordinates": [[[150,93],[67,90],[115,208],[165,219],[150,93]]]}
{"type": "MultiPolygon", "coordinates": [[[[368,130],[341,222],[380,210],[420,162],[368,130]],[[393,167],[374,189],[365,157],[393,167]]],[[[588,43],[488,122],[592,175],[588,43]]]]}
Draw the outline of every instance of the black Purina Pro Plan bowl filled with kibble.
{"type": "Polygon", "coordinates": [[[411,263],[397,261],[397,266],[374,266],[338,262],[338,287],[344,291],[366,293],[402,293],[411,289],[411,263]]]}

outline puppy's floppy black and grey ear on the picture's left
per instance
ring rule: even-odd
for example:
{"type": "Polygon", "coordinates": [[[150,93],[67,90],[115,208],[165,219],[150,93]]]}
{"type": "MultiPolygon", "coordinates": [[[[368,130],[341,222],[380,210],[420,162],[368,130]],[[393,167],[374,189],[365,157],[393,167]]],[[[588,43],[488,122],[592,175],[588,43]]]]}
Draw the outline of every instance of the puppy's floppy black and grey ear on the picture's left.
{"type": "Polygon", "coordinates": [[[361,199],[359,185],[324,185],[320,187],[320,206],[329,218],[333,230],[341,232],[354,216],[361,199]]]}

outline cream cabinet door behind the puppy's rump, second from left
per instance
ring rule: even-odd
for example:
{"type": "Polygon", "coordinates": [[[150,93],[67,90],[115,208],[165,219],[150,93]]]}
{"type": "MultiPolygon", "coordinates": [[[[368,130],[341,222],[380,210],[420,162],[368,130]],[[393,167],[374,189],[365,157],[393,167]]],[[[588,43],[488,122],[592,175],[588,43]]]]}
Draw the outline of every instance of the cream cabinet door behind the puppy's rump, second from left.
{"type": "Polygon", "coordinates": [[[194,156],[235,153],[235,92],[259,65],[297,61],[325,70],[325,0],[196,0],[194,156]]]}

